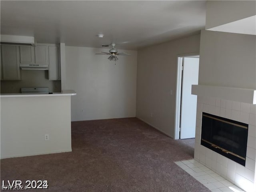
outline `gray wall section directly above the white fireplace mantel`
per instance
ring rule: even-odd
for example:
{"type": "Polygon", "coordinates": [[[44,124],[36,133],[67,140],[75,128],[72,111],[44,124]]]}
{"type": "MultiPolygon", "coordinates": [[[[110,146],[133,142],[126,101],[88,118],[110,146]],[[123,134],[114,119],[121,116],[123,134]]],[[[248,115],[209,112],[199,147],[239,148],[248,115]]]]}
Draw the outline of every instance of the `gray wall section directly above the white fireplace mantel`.
{"type": "Polygon", "coordinates": [[[256,89],[256,36],[201,32],[198,84],[256,89]]]}

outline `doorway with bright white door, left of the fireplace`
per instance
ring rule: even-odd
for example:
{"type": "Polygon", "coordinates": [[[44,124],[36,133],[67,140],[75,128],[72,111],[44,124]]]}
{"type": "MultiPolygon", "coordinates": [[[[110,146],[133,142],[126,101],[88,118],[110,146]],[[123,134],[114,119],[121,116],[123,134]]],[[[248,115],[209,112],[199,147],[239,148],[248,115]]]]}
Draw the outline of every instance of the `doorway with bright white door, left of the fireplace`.
{"type": "Polygon", "coordinates": [[[175,139],[195,138],[197,96],[191,85],[198,84],[199,55],[178,56],[175,139]]]}

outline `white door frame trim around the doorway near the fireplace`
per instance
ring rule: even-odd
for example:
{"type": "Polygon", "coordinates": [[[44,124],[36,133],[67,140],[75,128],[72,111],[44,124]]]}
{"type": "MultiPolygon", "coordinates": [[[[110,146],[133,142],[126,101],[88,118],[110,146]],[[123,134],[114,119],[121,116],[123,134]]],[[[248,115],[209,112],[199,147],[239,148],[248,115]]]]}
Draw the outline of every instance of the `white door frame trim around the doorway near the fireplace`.
{"type": "Polygon", "coordinates": [[[176,106],[174,119],[174,139],[180,138],[180,104],[182,84],[182,62],[184,57],[200,56],[199,52],[177,55],[176,106]]]}

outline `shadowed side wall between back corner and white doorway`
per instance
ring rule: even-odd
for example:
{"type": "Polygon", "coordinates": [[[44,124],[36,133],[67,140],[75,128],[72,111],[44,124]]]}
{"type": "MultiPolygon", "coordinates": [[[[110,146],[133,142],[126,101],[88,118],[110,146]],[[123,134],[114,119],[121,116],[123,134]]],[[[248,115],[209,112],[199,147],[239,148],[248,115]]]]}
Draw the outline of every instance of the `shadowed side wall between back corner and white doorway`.
{"type": "Polygon", "coordinates": [[[138,51],[136,116],[172,138],[178,55],[199,47],[198,34],[138,51]]]}

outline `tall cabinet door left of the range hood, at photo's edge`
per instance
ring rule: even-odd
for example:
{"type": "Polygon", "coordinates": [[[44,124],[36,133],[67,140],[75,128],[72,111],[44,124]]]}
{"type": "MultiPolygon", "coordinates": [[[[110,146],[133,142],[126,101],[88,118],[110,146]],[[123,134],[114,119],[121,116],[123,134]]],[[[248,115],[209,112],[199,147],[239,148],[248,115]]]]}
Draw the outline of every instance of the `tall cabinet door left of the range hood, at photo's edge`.
{"type": "Polygon", "coordinates": [[[1,45],[3,80],[20,80],[19,46],[1,45]]]}

